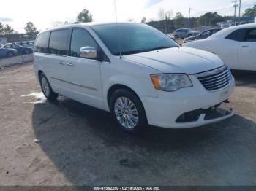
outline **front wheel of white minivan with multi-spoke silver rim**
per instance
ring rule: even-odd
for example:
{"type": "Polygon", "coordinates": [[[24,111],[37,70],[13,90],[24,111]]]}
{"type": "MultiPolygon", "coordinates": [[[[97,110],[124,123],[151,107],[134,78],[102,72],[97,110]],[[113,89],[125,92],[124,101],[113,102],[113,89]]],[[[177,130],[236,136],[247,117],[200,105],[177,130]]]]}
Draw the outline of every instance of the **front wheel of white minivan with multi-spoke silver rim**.
{"type": "Polygon", "coordinates": [[[140,98],[129,90],[116,90],[111,95],[110,111],[118,127],[129,133],[138,133],[148,125],[140,98]],[[121,107],[121,101],[123,101],[123,106],[126,105],[127,107],[121,107]]]}

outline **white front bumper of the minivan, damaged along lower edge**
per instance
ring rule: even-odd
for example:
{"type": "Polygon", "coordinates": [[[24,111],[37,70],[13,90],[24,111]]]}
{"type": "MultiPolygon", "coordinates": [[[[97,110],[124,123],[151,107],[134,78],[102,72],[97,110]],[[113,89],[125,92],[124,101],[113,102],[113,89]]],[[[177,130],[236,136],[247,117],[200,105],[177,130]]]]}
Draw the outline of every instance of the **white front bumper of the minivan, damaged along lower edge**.
{"type": "Polygon", "coordinates": [[[235,80],[232,77],[228,87],[222,90],[208,91],[195,76],[189,77],[192,79],[193,87],[184,88],[173,93],[157,90],[158,98],[141,98],[149,125],[162,128],[194,128],[233,116],[233,109],[227,109],[225,114],[220,116],[207,117],[207,112],[201,112],[195,120],[189,122],[178,121],[179,117],[187,112],[207,111],[213,106],[222,104],[230,98],[235,87],[235,80]]]}

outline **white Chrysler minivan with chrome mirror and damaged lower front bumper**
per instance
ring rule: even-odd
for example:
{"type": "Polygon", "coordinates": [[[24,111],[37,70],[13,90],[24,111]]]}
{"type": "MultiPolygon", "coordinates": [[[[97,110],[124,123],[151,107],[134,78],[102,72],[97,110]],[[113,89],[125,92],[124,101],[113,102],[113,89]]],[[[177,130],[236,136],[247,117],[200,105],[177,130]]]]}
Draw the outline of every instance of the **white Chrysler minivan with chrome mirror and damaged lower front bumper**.
{"type": "Polygon", "coordinates": [[[61,94],[111,112],[129,132],[148,124],[192,128],[233,116],[232,109],[219,107],[234,89],[225,63],[210,52],[180,47],[146,24],[49,29],[37,36],[34,56],[46,98],[61,94]]]}

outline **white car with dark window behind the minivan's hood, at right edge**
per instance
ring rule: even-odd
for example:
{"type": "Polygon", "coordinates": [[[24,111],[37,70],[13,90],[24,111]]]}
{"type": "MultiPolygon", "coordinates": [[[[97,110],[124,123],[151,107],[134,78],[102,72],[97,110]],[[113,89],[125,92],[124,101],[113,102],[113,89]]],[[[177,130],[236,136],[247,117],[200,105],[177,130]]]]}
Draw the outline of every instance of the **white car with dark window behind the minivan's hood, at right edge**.
{"type": "Polygon", "coordinates": [[[256,71],[256,24],[225,28],[184,46],[213,52],[231,69],[256,71]]]}

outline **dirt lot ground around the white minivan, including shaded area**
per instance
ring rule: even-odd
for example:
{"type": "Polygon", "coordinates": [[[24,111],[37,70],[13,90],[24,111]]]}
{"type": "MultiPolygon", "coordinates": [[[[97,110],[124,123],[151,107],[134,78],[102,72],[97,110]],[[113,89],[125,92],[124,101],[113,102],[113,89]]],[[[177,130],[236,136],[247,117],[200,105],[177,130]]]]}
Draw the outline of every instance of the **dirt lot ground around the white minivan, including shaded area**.
{"type": "Polygon", "coordinates": [[[31,63],[4,69],[0,184],[255,185],[254,76],[236,77],[236,115],[229,120],[184,130],[149,127],[132,136],[107,112],[62,96],[45,101],[31,63]]]}

